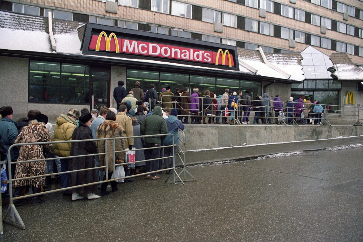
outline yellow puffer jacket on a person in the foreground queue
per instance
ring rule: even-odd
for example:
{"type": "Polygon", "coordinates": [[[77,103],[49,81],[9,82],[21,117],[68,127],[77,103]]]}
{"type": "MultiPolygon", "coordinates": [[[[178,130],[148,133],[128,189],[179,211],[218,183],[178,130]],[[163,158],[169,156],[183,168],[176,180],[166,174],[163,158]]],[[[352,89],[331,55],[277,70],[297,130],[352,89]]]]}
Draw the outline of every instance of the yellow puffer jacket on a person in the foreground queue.
{"type": "MultiPolygon", "coordinates": [[[[76,125],[77,123],[73,118],[64,114],[59,115],[56,120],[56,127],[54,128],[53,140],[72,140],[72,134],[76,125]]],[[[71,146],[72,143],[53,144],[54,154],[59,157],[69,156],[71,146]]]]}

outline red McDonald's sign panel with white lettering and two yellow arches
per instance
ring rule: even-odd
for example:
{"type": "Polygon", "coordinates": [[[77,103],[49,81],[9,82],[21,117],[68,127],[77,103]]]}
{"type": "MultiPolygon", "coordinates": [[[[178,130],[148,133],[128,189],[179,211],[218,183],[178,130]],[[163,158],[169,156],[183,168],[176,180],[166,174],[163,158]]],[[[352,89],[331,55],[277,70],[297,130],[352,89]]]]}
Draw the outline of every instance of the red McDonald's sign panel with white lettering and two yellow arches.
{"type": "Polygon", "coordinates": [[[233,55],[229,50],[219,49],[218,52],[192,49],[181,46],[164,45],[138,40],[117,38],[115,33],[107,36],[105,31],[93,35],[88,49],[114,53],[137,54],[152,57],[171,58],[184,61],[210,63],[215,65],[234,66],[233,55]],[[121,51],[121,52],[120,52],[121,51]],[[226,56],[228,59],[226,60],[226,56]],[[221,60],[221,63],[220,61],[221,60]]]}

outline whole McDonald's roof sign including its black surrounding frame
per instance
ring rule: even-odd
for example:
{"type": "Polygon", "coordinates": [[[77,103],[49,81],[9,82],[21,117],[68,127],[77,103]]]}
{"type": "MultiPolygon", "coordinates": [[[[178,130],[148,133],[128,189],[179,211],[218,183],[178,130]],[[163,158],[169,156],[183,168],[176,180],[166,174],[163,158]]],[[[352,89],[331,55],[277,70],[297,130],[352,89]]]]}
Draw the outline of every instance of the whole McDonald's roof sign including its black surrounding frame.
{"type": "MultiPolygon", "coordinates": [[[[87,30],[89,30],[89,27],[90,26],[87,26],[87,30]]],[[[97,25],[97,27],[99,27],[99,25],[97,25]]],[[[107,26],[105,26],[105,28],[107,28],[107,26]]],[[[89,31],[91,33],[88,35],[86,34],[86,37],[84,38],[82,53],[114,57],[122,57],[120,54],[131,54],[133,56],[148,56],[159,61],[162,61],[160,58],[164,58],[164,60],[168,59],[173,62],[189,62],[189,65],[191,65],[191,63],[200,63],[201,65],[208,67],[214,66],[215,68],[222,67],[223,69],[239,69],[238,60],[236,60],[237,49],[235,46],[228,46],[227,49],[226,45],[172,36],[171,38],[173,40],[175,38],[179,38],[179,40],[183,41],[189,40],[184,43],[180,41],[173,42],[166,40],[165,37],[168,36],[165,36],[164,34],[148,33],[117,27],[109,28],[111,29],[108,31],[89,31]],[[141,36],[140,34],[143,35],[141,36]],[[148,38],[147,35],[152,35],[152,38],[148,38]],[[159,40],[157,37],[155,38],[155,36],[159,37],[159,40]],[[161,39],[161,37],[163,37],[163,39],[161,39]],[[89,40],[89,42],[87,40],[89,40]],[[170,44],[166,42],[170,42],[170,44]],[[189,42],[194,43],[190,44],[189,42]],[[195,42],[203,43],[203,45],[195,44],[195,42]]]]}

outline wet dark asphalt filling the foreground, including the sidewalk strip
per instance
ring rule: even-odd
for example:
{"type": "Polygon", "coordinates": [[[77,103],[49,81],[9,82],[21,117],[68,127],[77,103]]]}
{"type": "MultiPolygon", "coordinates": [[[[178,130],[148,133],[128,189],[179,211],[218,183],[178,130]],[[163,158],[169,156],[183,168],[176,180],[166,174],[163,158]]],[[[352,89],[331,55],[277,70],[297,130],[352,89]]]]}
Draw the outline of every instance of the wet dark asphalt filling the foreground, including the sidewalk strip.
{"type": "Polygon", "coordinates": [[[163,173],[96,200],[46,194],[18,208],[27,229],[4,223],[0,241],[363,241],[362,137],[337,143],[188,152],[198,181],[169,184],[163,173]],[[352,146],[323,149],[339,144],[352,146]],[[306,152],[252,159],[280,150],[306,152]],[[212,158],[236,162],[203,165],[212,158]]]}

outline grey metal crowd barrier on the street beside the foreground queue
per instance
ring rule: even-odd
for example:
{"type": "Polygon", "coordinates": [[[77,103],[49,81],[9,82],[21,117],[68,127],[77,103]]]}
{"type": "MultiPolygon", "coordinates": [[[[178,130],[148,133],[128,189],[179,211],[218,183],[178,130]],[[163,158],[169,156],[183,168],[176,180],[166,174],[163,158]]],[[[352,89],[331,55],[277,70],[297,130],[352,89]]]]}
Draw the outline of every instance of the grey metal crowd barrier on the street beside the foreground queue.
{"type": "MultiPolygon", "coordinates": [[[[136,176],[149,175],[151,173],[168,171],[168,170],[172,170],[172,173],[170,174],[170,176],[168,176],[168,178],[166,179],[166,182],[168,182],[168,183],[174,183],[174,184],[182,184],[182,185],[185,185],[183,181],[188,181],[188,180],[181,179],[180,178],[180,175],[183,174],[183,173],[184,174],[185,173],[188,173],[189,175],[191,175],[191,174],[185,168],[185,134],[184,134],[184,132],[182,132],[182,134],[183,134],[183,139],[182,139],[183,148],[179,147],[179,145],[178,145],[178,147],[180,148],[180,152],[181,153],[184,153],[184,158],[181,159],[182,160],[182,163],[183,163],[183,169],[182,169],[182,171],[179,174],[175,170],[175,159],[174,159],[175,153],[174,153],[174,149],[172,149],[173,150],[173,155],[172,156],[167,156],[167,157],[157,157],[155,159],[140,160],[140,161],[134,161],[134,162],[122,163],[122,164],[116,164],[116,160],[115,160],[115,153],[118,153],[118,152],[126,152],[127,151],[127,150],[115,151],[115,140],[117,140],[117,139],[145,138],[145,137],[155,137],[155,136],[171,135],[172,136],[172,140],[173,140],[172,141],[172,145],[164,145],[162,147],[174,147],[175,146],[175,143],[174,143],[174,135],[172,135],[172,134],[143,135],[143,136],[118,137],[118,138],[102,138],[102,139],[88,139],[88,140],[69,140],[69,141],[51,141],[51,142],[34,142],[34,143],[13,144],[8,149],[8,160],[11,160],[11,149],[13,147],[22,146],[22,145],[42,145],[42,144],[58,144],[58,143],[77,143],[77,142],[83,142],[83,141],[105,140],[105,151],[106,152],[104,152],[104,153],[94,153],[94,154],[89,154],[89,155],[66,156],[66,157],[58,157],[58,158],[52,157],[52,158],[44,158],[44,159],[38,159],[38,160],[25,160],[25,161],[8,162],[9,176],[11,176],[11,173],[12,173],[11,172],[11,164],[26,163],[26,162],[48,161],[48,160],[55,160],[55,159],[69,159],[69,158],[86,157],[86,156],[94,156],[94,155],[105,155],[105,160],[106,160],[105,164],[106,165],[101,166],[101,167],[93,167],[93,168],[79,169],[79,170],[66,171],[66,172],[57,172],[57,173],[50,173],[50,174],[44,174],[44,175],[38,175],[38,176],[29,176],[29,177],[23,177],[23,178],[17,178],[17,179],[12,179],[11,177],[9,177],[8,180],[7,180],[7,184],[9,184],[9,201],[10,201],[10,204],[9,204],[8,209],[7,209],[7,212],[5,212],[5,214],[4,214],[3,221],[5,223],[8,223],[10,225],[19,227],[21,229],[26,229],[23,220],[21,219],[19,213],[17,212],[17,209],[16,209],[16,207],[15,207],[15,205],[13,203],[13,200],[18,200],[18,199],[27,198],[27,197],[38,196],[38,195],[42,195],[42,194],[60,192],[60,191],[69,190],[69,189],[73,189],[73,188],[79,188],[79,187],[82,187],[82,186],[101,184],[103,182],[117,181],[117,180],[121,180],[121,179],[127,179],[127,178],[131,178],[131,177],[136,177],[136,176]],[[130,163],[139,163],[139,162],[143,162],[143,161],[153,161],[153,160],[159,160],[159,159],[163,159],[163,158],[172,158],[173,159],[173,167],[171,167],[171,168],[165,168],[165,169],[160,169],[160,170],[157,170],[157,171],[149,171],[149,172],[146,171],[146,172],[140,173],[140,174],[135,174],[135,175],[131,175],[131,176],[125,176],[125,177],[116,178],[116,179],[110,179],[110,177],[108,176],[108,172],[107,172],[109,165],[108,165],[108,162],[107,162],[108,161],[108,152],[107,152],[107,141],[106,140],[113,140],[112,153],[113,153],[113,169],[114,169],[114,171],[115,171],[115,168],[117,166],[119,166],[119,165],[125,165],[125,164],[130,164],[130,163]],[[105,168],[106,169],[106,173],[105,173],[106,180],[104,180],[104,181],[91,182],[91,183],[87,183],[87,184],[70,186],[70,187],[66,187],[66,188],[58,188],[58,189],[55,189],[55,190],[50,190],[50,191],[45,191],[45,192],[40,192],[40,193],[35,193],[35,194],[28,194],[28,195],[19,196],[19,197],[13,197],[13,194],[12,194],[12,182],[13,181],[25,180],[25,179],[32,179],[32,178],[37,178],[37,177],[46,177],[46,176],[52,176],[52,175],[68,174],[68,173],[79,172],[79,171],[88,171],[88,170],[99,169],[99,168],[105,168]],[[171,178],[173,178],[173,181],[172,182],[171,182],[171,178]],[[8,219],[8,216],[10,217],[9,219],[8,219]],[[16,221],[18,223],[16,223],[16,221]]],[[[162,147],[158,147],[158,148],[162,148],[162,147]]],[[[154,149],[154,148],[153,147],[151,147],[151,148],[140,148],[140,149],[133,149],[133,150],[134,151],[138,151],[138,150],[147,150],[147,149],[154,149]]],[[[4,161],[2,161],[1,163],[4,163],[4,161]]],[[[196,179],[194,177],[193,177],[193,179],[194,179],[193,181],[196,181],[196,179]]],[[[0,229],[2,231],[2,223],[1,223],[0,229]]]]}

